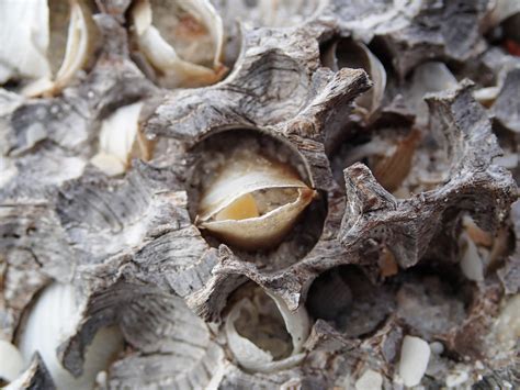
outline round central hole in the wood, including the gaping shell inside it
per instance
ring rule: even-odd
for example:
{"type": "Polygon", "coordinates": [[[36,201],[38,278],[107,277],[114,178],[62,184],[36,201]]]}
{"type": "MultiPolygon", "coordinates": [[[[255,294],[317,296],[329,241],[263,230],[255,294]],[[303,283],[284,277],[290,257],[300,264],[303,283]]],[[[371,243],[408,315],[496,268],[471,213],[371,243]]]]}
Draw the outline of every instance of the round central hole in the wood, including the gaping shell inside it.
{"type": "Polygon", "coordinates": [[[282,268],[317,243],[325,198],[286,142],[253,129],[213,133],[191,149],[189,211],[212,246],[282,268]]]}

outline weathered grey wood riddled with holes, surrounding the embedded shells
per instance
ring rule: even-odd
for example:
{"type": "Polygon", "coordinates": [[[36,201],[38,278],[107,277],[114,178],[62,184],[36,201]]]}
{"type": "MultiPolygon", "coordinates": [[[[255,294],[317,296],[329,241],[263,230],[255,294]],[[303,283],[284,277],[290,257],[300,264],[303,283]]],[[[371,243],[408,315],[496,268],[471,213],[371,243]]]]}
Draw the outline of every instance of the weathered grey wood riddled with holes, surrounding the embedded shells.
{"type": "MultiPolygon", "coordinates": [[[[99,328],[116,324],[124,335],[108,388],[352,388],[368,368],[385,388],[403,387],[407,334],[442,343],[427,388],[445,386],[453,371],[467,375],[465,386],[515,385],[518,346],[499,357],[491,346],[504,302],[520,287],[519,169],[498,158],[502,148],[518,153],[520,62],[482,34],[488,1],[281,1],[278,18],[237,11],[241,22],[233,3],[214,2],[230,67],[215,85],[155,85],[128,43],[131,1],[98,0],[92,69],[56,97],[0,89],[0,338],[15,342],[33,297],[57,280],[82,296],[75,332],[58,348],[64,367],[81,374],[99,328]],[[321,63],[338,37],[365,43],[386,68],[370,119],[354,102],[373,88],[368,74],[321,63]],[[426,90],[426,111],[412,100],[410,75],[430,60],[459,81],[426,90]],[[498,94],[481,104],[476,90],[490,86],[498,94]],[[109,177],[89,163],[101,122],[136,101],[154,157],[109,177]],[[246,253],[196,227],[196,182],[206,171],[194,167],[207,157],[204,143],[229,130],[239,147],[251,137],[280,143],[273,151],[319,193],[274,249],[246,253]],[[348,156],[359,144],[374,151],[381,137],[392,148],[410,134],[411,170],[393,192],[374,174],[380,157],[348,156]],[[423,169],[438,157],[438,171],[423,169]],[[478,247],[482,280],[460,266],[468,216],[491,241],[478,247]],[[248,281],[293,312],[308,311],[297,366],[251,372],[230,352],[230,297],[248,281]]],[[[218,147],[225,155],[225,143],[218,147]]],[[[25,388],[53,386],[37,357],[23,377],[25,388]]]]}

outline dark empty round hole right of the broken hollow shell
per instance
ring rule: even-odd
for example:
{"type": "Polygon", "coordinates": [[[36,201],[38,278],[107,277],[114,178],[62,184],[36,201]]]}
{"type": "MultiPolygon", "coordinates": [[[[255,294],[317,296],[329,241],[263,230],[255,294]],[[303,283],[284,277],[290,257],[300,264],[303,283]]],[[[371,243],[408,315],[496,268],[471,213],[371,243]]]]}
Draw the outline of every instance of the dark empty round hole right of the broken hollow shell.
{"type": "Polygon", "coordinates": [[[310,285],[305,303],[309,315],[335,326],[347,337],[376,331],[396,308],[393,289],[374,285],[362,268],[334,267],[310,285]]]}

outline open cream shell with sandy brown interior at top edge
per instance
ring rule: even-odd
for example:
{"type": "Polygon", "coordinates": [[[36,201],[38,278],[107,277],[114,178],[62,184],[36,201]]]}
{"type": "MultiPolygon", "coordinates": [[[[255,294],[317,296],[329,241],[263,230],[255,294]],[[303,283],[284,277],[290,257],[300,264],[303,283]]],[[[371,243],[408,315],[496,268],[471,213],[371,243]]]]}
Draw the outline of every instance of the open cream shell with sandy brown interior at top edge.
{"type": "Polygon", "coordinates": [[[155,4],[137,0],[131,12],[137,46],[160,85],[200,87],[218,81],[225,73],[221,63],[224,29],[210,1],[157,1],[158,12],[152,12],[155,4]],[[161,26],[165,32],[159,31],[161,26]]]}

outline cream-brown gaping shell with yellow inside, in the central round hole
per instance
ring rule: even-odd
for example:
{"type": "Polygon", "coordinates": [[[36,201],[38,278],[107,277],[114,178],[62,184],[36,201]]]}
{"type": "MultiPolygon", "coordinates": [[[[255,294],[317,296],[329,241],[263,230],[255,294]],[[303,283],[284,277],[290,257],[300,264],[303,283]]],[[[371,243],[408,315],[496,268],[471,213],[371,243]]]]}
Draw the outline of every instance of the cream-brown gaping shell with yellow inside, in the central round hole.
{"type": "Polygon", "coordinates": [[[203,191],[196,221],[199,227],[237,247],[272,247],[316,193],[291,167],[237,151],[203,191]]]}

